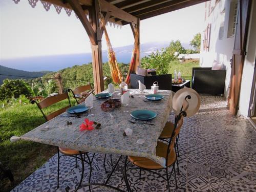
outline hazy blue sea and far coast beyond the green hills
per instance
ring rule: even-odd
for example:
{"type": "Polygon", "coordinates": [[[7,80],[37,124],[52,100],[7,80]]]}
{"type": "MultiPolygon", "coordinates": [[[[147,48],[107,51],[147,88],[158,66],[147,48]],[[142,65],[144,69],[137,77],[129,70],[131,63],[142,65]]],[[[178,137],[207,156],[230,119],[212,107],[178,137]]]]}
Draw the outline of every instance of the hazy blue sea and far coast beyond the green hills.
{"type": "MultiPolygon", "coordinates": [[[[148,42],[141,44],[141,57],[147,56],[152,52],[161,50],[169,45],[168,41],[165,42],[148,42]]],[[[190,49],[189,43],[182,43],[185,49],[190,49]]],[[[133,45],[116,47],[114,48],[117,61],[122,63],[129,63],[132,56],[133,45]]],[[[108,51],[102,51],[103,62],[108,61],[108,51]]],[[[51,55],[51,56],[38,56],[28,58],[16,59],[2,59],[1,65],[11,68],[26,70],[26,71],[58,71],[63,68],[72,67],[74,65],[83,65],[84,63],[92,62],[91,53],[80,54],[67,54],[67,55],[51,55]]]]}

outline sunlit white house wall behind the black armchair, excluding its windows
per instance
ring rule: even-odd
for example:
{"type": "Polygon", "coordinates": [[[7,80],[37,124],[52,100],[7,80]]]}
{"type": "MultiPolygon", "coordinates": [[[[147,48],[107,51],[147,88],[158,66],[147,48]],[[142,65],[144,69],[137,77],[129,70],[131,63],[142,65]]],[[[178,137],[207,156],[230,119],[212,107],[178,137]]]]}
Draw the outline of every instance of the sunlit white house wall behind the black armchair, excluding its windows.
{"type": "MultiPolygon", "coordinates": [[[[229,22],[229,8],[231,0],[221,0],[211,14],[208,16],[208,4],[207,2],[207,16],[205,20],[205,28],[208,24],[211,24],[210,30],[210,44],[209,51],[203,50],[203,36],[202,31],[201,38],[201,54],[200,54],[200,66],[212,67],[212,62],[217,60],[223,63],[226,67],[226,82],[224,95],[228,96],[228,87],[230,81],[230,59],[232,57],[232,51],[234,46],[234,37],[227,37],[228,35],[228,22],[229,22]],[[224,22],[223,39],[219,39],[219,30],[222,22],[224,22]]],[[[211,4],[215,4],[215,0],[211,1],[211,4]]]]}

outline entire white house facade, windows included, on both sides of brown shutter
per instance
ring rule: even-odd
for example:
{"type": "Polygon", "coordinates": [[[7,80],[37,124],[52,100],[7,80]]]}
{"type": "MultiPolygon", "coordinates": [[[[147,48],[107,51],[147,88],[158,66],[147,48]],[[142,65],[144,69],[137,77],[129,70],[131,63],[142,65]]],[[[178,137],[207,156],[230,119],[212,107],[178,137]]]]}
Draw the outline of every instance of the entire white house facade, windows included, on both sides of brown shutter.
{"type": "MultiPolygon", "coordinates": [[[[239,0],[211,0],[205,3],[205,29],[201,36],[200,66],[212,67],[214,60],[226,68],[224,95],[229,94],[232,52],[239,0]]],[[[243,1],[243,0],[241,0],[243,1]]],[[[246,56],[243,66],[238,115],[249,117],[252,88],[255,86],[256,2],[252,0],[246,56]]]]}

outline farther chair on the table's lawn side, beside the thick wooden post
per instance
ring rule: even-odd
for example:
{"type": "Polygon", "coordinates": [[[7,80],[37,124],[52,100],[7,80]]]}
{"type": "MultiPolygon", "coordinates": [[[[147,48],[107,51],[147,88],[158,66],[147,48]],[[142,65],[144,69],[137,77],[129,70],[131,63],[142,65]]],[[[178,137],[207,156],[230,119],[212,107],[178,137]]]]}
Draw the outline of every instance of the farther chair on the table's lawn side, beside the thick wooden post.
{"type": "Polygon", "coordinates": [[[86,98],[93,93],[93,89],[90,82],[88,82],[86,86],[79,86],[74,90],[68,89],[67,91],[73,94],[73,97],[76,99],[77,104],[80,104],[83,101],[85,101],[86,98]],[[78,96],[82,92],[86,92],[86,94],[84,96],[78,96]]]}

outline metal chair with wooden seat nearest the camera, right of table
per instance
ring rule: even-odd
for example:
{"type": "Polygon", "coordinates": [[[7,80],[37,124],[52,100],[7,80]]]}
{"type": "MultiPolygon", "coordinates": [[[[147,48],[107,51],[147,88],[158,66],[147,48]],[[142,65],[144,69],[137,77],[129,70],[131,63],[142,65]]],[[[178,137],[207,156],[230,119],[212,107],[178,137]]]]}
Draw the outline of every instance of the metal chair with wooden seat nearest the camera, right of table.
{"type": "MultiPolygon", "coordinates": [[[[124,180],[127,185],[127,190],[132,191],[129,185],[129,181],[127,179],[126,175],[126,166],[127,166],[127,160],[134,165],[136,165],[139,169],[148,170],[149,172],[157,174],[159,177],[163,178],[165,181],[167,181],[168,185],[168,191],[170,192],[169,188],[169,179],[170,176],[168,174],[168,167],[173,166],[172,171],[170,172],[170,175],[172,175],[173,170],[175,169],[175,161],[176,161],[176,153],[174,150],[175,145],[175,137],[179,134],[181,126],[177,126],[178,123],[181,124],[181,121],[183,120],[183,117],[186,116],[186,112],[182,111],[177,116],[177,121],[175,123],[175,129],[172,133],[172,138],[168,141],[168,144],[165,144],[163,142],[158,141],[157,147],[156,147],[156,155],[160,157],[164,157],[166,159],[165,167],[161,166],[160,164],[152,161],[151,159],[147,159],[145,157],[133,157],[133,156],[126,156],[125,162],[124,162],[124,180]],[[164,178],[161,174],[155,172],[154,170],[160,170],[165,169],[166,170],[166,178],[164,178]]],[[[177,187],[177,178],[176,173],[174,171],[175,175],[175,182],[177,187]]]]}

